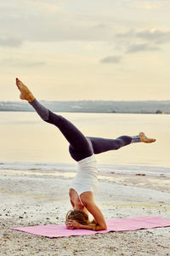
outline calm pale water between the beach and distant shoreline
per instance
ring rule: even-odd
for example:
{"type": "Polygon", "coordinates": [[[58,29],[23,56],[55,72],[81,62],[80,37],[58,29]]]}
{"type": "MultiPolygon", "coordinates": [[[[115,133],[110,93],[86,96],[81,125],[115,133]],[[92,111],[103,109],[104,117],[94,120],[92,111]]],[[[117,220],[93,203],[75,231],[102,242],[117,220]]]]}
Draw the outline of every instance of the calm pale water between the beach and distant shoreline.
{"type": "MultiPolygon", "coordinates": [[[[169,170],[170,115],[124,113],[60,113],[90,137],[116,138],[144,131],[156,137],[156,143],[136,143],[117,151],[97,155],[99,165],[108,170],[136,168],[169,170]],[[103,166],[107,165],[107,166],[103,166]],[[144,167],[147,166],[147,167],[144,167]]],[[[0,168],[74,168],[68,143],[54,125],[40,119],[37,113],[0,112],[0,168]],[[50,165],[52,165],[50,167],[50,165]],[[58,163],[58,164],[57,164],[58,163]],[[65,163],[60,165],[59,163],[65,163]],[[22,167],[21,167],[22,166],[22,167]],[[66,166],[66,167],[65,167],[66,166]],[[70,167],[69,167],[70,166],[70,167]],[[41,167],[42,168],[42,167],[41,167]]]]}

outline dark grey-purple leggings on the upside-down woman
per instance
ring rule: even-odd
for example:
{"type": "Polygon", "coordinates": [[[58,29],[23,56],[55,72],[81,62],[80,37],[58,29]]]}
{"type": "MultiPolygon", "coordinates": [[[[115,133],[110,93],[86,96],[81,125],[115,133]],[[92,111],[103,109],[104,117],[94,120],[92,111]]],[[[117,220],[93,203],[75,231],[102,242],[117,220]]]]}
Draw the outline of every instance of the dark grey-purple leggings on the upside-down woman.
{"type": "Polygon", "coordinates": [[[117,137],[116,139],[85,137],[69,120],[48,110],[37,99],[34,99],[30,104],[44,121],[59,128],[59,131],[70,143],[69,151],[71,157],[76,161],[87,158],[92,154],[100,154],[122,148],[132,141],[132,137],[128,136],[117,137]]]}

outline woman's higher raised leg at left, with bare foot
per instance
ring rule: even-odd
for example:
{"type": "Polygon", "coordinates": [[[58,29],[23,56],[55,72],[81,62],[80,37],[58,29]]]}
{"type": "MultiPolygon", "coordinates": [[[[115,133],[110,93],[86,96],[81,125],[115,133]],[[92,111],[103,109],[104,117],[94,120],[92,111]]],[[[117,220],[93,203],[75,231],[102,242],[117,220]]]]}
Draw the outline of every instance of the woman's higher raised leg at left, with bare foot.
{"type": "MultiPolygon", "coordinates": [[[[26,96],[26,90],[28,89],[20,80],[18,80],[17,86],[21,92],[20,98],[23,100],[26,99],[44,121],[59,128],[59,131],[62,132],[68,143],[70,143],[70,153],[74,160],[82,160],[94,154],[88,139],[75,125],[71,124],[69,120],[61,115],[55,114],[48,110],[48,108],[45,108],[34,96],[26,96]]],[[[28,93],[30,95],[31,91],[28,90],[28,93]]]]}

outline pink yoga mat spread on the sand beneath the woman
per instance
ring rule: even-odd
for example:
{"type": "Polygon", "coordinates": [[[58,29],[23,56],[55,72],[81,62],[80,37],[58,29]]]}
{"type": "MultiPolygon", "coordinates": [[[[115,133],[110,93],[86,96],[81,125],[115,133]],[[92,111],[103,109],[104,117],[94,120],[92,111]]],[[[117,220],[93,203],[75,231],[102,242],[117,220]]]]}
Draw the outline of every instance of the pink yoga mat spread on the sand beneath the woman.
{"type": "Polygon", "coordinates": [[[107,230],[67,230],[65,224],[61,225],[38,225],[25,228],[13,228],[12,230],[23,231],[36,236],[63,237],[63,236],[85,236],[96,233],[107,233],[110,231],[128,231],[169,227],[170,220],[161,217],[137,217],[137,218],[114,218],[106,221],[107,230]]]}

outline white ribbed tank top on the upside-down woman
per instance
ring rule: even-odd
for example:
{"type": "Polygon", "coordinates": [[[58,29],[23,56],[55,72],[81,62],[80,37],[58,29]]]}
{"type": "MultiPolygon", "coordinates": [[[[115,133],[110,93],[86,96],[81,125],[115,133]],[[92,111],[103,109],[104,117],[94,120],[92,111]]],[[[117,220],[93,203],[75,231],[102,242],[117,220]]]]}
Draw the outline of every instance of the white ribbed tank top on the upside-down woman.
{"type": "Polygon", "coordinates": [[[83,192],[98,190],[98,167],[94,154],[77,162],[77,174],[71,183],[78,195],[83,192]]]}

